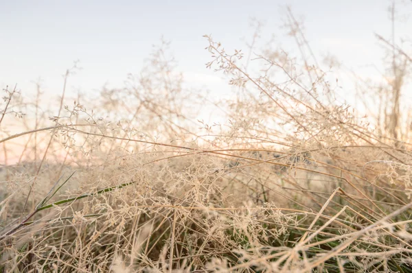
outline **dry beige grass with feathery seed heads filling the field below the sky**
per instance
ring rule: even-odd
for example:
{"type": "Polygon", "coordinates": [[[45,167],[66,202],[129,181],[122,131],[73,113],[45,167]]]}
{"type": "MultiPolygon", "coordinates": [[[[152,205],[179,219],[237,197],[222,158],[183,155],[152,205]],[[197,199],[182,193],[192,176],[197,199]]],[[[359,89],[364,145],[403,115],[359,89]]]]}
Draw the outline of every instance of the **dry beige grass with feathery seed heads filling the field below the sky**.
{"type": "Polygon", "coordinates": [[[299,57],[205,36],[238,91],[214,104],[227,124],[196,120],[210,98],[183,88],[167,43],[89,101],[65,94],[68,69],[52,112],[41,84],[31,102],[5,88],[0,272],[412,272],[411,58],[380,37],[393,80],[360,118],[287,19],[299,57]]]}

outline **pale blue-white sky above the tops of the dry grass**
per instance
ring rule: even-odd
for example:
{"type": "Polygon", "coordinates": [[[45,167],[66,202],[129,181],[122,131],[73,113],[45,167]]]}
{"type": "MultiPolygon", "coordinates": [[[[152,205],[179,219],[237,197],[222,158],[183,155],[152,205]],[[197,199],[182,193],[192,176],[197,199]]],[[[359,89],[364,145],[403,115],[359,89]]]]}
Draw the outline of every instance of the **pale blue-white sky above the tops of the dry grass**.
{"type": "MultiPolygon", "coordinates": [[[[412,1],[398,1],[400,14],[412,14],[412,1]]],[[[69,91],[89,94],[108,83],[122,86],[128,73],[139,73],[152,45],[161,36],[171,42],[179,70],[194,86],[217,94],[230,92],[219,73],[206,69],[205,50],[211,34],[226,49],[246,49],[249,19],[265,23],[262,40],[275,34],[288,49],[293,43],[280,28],[290,5],[303,16],[306,36],[317,56],[334,54],[347,67],[369,76],[361,67],[380,66],[382,49],[374,32],[389,37],[388,0],[265,0],[265,1],[7,1],[0,0],[0,84],[18,84],[33,93],[41,77],[45,91],[60,95],[61,75],[80,60],[82,71],[71,78],[69,91]]],[[[412,27],[397,23],[399,36],[411,38],[412,27]]],[[[374,75],[370,75],[373,77],[374,75]]],[[[344,84],[344,83],[343,83],[344,84]]]]}

